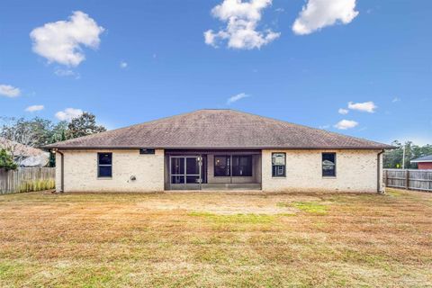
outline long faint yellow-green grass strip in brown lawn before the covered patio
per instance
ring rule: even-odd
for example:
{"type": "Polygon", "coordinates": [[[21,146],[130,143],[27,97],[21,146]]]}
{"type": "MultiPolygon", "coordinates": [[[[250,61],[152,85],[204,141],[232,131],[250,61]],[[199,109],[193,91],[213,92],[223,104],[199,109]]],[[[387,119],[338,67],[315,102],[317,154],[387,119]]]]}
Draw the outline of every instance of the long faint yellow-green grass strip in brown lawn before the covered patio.
{"type": "Polygon", "coordinates": [[[206,220],[211,220],[216,223],[244,223],[244,224],[260,224],[260,223],[271,223],[275,221],[276,215],[267,214],[232,214],[222,215],[214,214],[210,212],[192,211],[188,213],[188,216],[201,217],[206,220]]]}

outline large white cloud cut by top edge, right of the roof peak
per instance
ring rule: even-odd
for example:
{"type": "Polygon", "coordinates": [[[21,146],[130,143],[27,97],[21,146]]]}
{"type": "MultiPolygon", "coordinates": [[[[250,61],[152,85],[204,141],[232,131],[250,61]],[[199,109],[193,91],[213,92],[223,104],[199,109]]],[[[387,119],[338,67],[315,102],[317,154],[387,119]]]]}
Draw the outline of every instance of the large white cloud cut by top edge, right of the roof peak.
{"type": "Polygon", "coordinates": [[[293,23],[293,31],[306,35],[335,23],[351,23],[357,15],[356,0],[309,0],[293,23]]]}

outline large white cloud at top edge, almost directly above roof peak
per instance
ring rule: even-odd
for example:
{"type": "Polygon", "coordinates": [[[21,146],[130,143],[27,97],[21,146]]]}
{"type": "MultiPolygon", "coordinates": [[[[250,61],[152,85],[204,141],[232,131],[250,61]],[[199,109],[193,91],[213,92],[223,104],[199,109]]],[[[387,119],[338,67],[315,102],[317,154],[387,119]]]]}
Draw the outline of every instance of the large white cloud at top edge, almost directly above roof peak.
{"type": "Polygon", "coordinates": [[[281,35],[279,32],[270,29],[257,31],[262,10],[271,4],[272,0],[223,0],[211,9],[211,14],[221,22],[227,23],[227,27],[216,32],[205,31],[205,43],[218,47],[220,40],[228,40],[227,45],[232,49],[259,49],[277,39],[281,35]]]}

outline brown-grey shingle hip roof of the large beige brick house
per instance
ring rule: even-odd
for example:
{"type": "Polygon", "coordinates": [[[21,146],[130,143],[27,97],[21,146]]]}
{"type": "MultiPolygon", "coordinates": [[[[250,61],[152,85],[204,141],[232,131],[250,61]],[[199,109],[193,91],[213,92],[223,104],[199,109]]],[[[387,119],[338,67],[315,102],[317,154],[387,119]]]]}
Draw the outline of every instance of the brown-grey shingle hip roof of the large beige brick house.
{"type": "Polygon", "coordinates": [[[234,110],[198,110],[45,148],[365,148],[392,146],[234,110]]]}

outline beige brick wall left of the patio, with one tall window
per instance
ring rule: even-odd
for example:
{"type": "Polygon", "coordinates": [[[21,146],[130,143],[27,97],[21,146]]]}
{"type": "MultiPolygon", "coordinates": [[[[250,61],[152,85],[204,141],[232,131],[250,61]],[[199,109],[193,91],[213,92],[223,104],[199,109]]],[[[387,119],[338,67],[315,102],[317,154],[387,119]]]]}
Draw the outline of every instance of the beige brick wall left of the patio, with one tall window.
{"type": "MultiPolygon", "coordinates": [[[[157,192],[164,190],[164,150],[139,155],[139,149],[63,150],[65,192],[157,192]],[[97,177],[97,152],[112,152],[112,178],[97,177]],[[131,181],[130,176],[136,180],[131,181]]],[[[56,154],[56,188],[61,160],[56,154]]]]}

